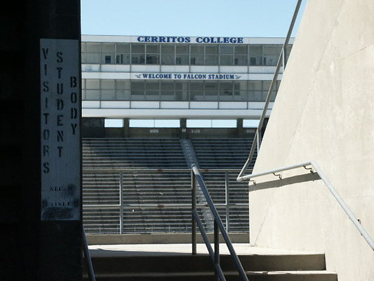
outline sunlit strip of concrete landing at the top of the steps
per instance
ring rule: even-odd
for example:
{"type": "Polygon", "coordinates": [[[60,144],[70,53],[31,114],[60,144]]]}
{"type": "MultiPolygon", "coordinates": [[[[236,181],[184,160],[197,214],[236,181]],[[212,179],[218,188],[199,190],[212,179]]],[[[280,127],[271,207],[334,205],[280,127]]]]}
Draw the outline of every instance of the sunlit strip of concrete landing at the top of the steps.
{"type": "MultiPolygon", "coordinates": [[[[276,255],[276,254],[319,254],[305,251],[288,251],[281,249],[267,249],[252,247],[251,244],[234,243],[238,255],[276,255]]],[[[214,247],[212,245],[212,247],[214,247]]],[[[190,254],[191,244],[113,244],[90,245],[91,256],[165,256],[190,254]]],[[[205,244],[197,244],[198,254],[208,254],[205,244]]],[[[226,244],[220,244],[220,254],[229,254],[226,244]]]]}

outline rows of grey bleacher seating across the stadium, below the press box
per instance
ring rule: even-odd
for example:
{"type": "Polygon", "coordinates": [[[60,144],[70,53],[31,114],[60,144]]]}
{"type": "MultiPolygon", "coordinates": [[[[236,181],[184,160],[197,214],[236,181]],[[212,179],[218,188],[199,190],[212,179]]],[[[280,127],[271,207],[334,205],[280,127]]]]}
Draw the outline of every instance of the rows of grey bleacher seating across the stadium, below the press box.
{"type": "MultiPolygon", "coordinates": [[[[227,148],[230,144],[235,146],[234,143],[227,141],[227,148]]],[[[82,148],[87,233],[190,232],[191,175],[178,138],[86,138],[82,148]],[[184,204],[184,207],[168,204],[184,204]]],[[[217,157],[214,159],[218,161],[217,157]]],[[[229,203],[246,206],[230,208],[229,230],[248,232],[248,190],[246,184],[236,182],[238,173],[239,170],[228,172],[229,203]]],[[[203,177],[213,201],[225,203],[225,171],[210,171],[203,173],[203,177]]],[[[225,207],[218,211],[226,223],[225,207]]]]}

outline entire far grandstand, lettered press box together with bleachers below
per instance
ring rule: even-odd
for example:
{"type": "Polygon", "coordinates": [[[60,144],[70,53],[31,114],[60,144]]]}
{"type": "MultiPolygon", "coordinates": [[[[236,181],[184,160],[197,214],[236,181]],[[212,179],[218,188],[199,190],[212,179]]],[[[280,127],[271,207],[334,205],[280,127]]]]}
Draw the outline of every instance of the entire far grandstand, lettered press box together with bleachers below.
{"type": "MultiPolygon", "coordinates": [[[[283,43],[282,38],[84,35],[86,232],[189,233],[189,168],[196,164],[210,170],[204,178],[221,204],[227,230],[243,234],[244,240],[235,241],[248,242],[248,186],[235,178],[246,162],[283,43]],[[179,207],[171,206],[175,202],[179,207]]],[[[201,212],[213,231],[213,221],[201,212]]]]}

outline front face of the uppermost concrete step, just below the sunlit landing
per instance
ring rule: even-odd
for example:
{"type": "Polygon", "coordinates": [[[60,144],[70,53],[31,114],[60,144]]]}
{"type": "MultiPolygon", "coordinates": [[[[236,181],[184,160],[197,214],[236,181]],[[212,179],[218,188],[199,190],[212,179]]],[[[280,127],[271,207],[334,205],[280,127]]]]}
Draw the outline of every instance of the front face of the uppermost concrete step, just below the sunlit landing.
{"type": "MultiPolygon", "coordinates": [[[[293,271],[325,270],[323,254],[288,255],[240,255],[245,270],[250,271],[293,271]]],[[[231,256],[220,256],[222,270],[234,271],[236,267],[231,256]]],[[[208,255],[182,254],[173,256],[101,256],[93,257],[95,273],[142,273],[164,272],[210,272],[213,267],[208,255]]]]}

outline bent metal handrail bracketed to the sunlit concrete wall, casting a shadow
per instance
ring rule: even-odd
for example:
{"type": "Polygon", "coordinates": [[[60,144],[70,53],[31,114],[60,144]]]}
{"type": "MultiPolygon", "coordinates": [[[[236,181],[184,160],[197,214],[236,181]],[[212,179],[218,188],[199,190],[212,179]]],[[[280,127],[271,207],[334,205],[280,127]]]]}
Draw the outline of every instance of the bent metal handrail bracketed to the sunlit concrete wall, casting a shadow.
{"type": "MultiPolygon", "coordinates": [[[[281,171],[288,171],[288,170],[291,170],[291,169],[296,169],[296,168],[301,168],[301,167],[304,167],[305,169],[307,169],[306,168],[307,166],[312,166],[312,169],[315,170],[316,174],[318,174],[319,177],[321,178],[321,180],[323,181],[323,183],[325,183],[328,190],[330,190],[331,194],[335,197],[335,199],[340,204],[340,207],[342,207],[342,209],[345,211],[345,214],[347,214],[347,216],[352,221],[354,226],[356,226],[357,230],[359,230],[359,233],[362,235],[363,239],[365,239],[366,242],[368,242],[369,246],[374,251],[373,239],[370,237],[370,235],[365,230],[365,228],[363,228],[363,226],[361,226],[361,223],[359,223],[359,220],[356,218],[356,216],[354,216],[351,209],[349,209],[348,205],[345,203],[345,201],[342,199],[342,197],[340,197],[340,195],[335,190],[335,188],[330,183],[330,181],[328,181],[328,178],[326,177],[325,174],[323,174],[323,171],[319,168],[319,166],[316,164],[316,162],[309,161],[309,162],[304,162],[304,163],[300,163],[300,164],[295,164],[295,165],[292,165],[292,166],[285,166],[285,167],[279,168],[279,169],[272,169],[272,170],[264,171],[264,172],[257,173],[257,174],[246,175],[246,176],[243,176],[240,179],[240,181],[250,180],[251,178],[257,178],[259,176],[265,176],[265,175],[268,175],[268,174],[275,174],[275,173],[279,173],[281,171]]],[[[312,172],[312,170],[311,170],[311,172],[312,172]]],[[[279,176],[279,175],[276,175],[276,176],[279,176]]]]}

